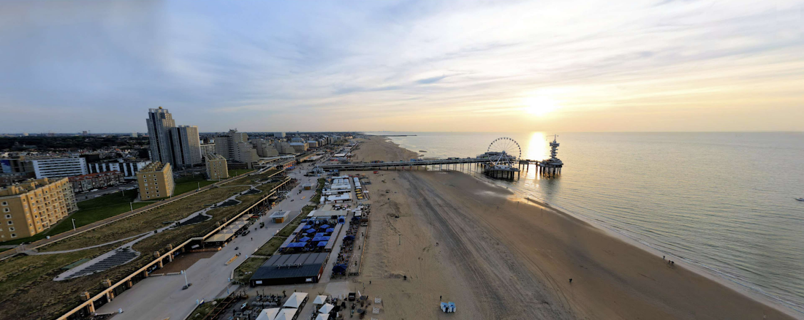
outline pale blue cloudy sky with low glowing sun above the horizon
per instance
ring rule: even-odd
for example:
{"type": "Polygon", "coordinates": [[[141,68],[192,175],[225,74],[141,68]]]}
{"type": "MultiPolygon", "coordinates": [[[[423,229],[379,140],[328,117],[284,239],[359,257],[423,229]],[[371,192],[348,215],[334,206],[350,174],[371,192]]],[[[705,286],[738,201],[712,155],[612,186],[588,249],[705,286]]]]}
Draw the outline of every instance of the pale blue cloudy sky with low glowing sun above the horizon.
{"type": "Polygon", "coordinates": [[[0,133],[804,131],[801,1],[4,1],[0,133]]]}

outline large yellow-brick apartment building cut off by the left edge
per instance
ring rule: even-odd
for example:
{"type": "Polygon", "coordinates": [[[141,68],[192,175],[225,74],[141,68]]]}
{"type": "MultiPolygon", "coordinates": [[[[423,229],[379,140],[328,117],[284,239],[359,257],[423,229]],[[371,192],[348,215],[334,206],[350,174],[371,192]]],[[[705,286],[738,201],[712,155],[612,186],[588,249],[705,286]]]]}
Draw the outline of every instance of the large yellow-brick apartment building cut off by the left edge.
{"type": "Polygon", "coordinates": [[[0,187],[0,241],[33,236],[78,210],[67,178],[0,187]]]}

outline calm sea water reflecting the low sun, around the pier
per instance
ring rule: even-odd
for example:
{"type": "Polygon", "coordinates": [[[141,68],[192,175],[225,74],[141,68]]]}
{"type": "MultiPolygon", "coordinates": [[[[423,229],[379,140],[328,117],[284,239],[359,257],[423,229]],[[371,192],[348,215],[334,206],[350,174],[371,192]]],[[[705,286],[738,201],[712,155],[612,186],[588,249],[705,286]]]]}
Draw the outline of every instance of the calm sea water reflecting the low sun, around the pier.
{"type": "MultiPolygon", "coordinates": [[[[497,137],[519,142],[523,158],[549,154],[538,132],[371,134],[416,134],[391,139],[425,158],[474,157],[497,137]]],[[[560,177],[531,169],[494,183],[804,315],[804,202],[794,200],[804,197],[804,133],[558,134],[560,177]]]]}

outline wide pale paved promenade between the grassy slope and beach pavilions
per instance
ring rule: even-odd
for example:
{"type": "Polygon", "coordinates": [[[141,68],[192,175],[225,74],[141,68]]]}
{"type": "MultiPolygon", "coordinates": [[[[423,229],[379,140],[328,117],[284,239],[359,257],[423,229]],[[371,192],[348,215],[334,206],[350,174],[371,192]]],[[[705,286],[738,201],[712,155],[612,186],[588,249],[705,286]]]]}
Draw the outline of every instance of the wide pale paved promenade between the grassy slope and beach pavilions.
{"type": "MultiPolygon", "coordinates": [[[[309,165],[306,165],[306,167],[309,167],[309,165]]],[[[279,205],[269,211],[269,214],[274,211],[285,210],[291,211],[293,218],[300,213],[301,207],[310,203],[309,199],[315,194],[315,190],[301,191],[301,194],[298,194],[298,191],[301,188],[301,184],[313,178],[305,177],[302,174],[303,170],[300,168],[289,172],[291,178],[299,180],[299,185],[289,191],[288,199],[282,200],[279,205]],[[305,199],[301,199],[302,197],[305,199]],[[290,201],[291,199],[293,201],[290,201]]],[[[236,289],[236,286],[229,284],[228,278],[232,277],[232,273],[237,266],[245,261],[246,256],[250,256],[252,252],[256,252],[258,248],[268,242],[273,237],[274,232],[287,225],[293,220],[292,218],[288,219],[284,224],[273,224],[269,221],[268,215],[265,215],[263,219],[265,219],[266,228],[252,231],[247,237],[237,237],[236,240],[215,253],[214,256],[195,262],[194,265],[187,269],[187,280],[193,284],[189,289],[182,289],[184,277],[180,275],[148,277],[134,285],[132,289],[126,290],[120,296],[115,297],[112,302],[100,307],[97,312],[107,314],[122,309],[123,314],[117,314],[115,320],[161,320],[165,318],[181,320],[187,317],[192,310],[195,310],[196,300],[206,299],[209,301],[215,297],[226,295],[227,289],[230,292],[236,289]],[[254,240],[250,240],[252,237],[254,240]],[[235,250],[236,247],[239,248],[235,250]],[[232,264],[226,265],[226,262],[238,252],[242,255],[232,264]]]]}

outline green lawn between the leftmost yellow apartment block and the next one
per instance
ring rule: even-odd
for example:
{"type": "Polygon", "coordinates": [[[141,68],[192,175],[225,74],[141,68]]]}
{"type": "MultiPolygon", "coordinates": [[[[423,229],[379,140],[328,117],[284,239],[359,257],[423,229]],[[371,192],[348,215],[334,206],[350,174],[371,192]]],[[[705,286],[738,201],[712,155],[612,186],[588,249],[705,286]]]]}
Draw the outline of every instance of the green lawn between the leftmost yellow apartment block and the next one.
{"type": "MultiPolygon", "coordinates": [[[[95,221],[109,218],[114,215],[131,211],[129,202],[137,199],[137,192],[130,190],[125,191],[125,195],[120,192],[115,192],[111,195],[104,195],[95,199],[88,199],[78,203],[78,211],[68,216],[66,219],[59,221],[55,226],[48,229],[46,232],[29,236],[27,238],[20,238],[15,240],[3,241],[0,244],[22,244],[23,242],[33,242],[36,240],[44,239],[46,236],[54,236],[61,232],[66,232],[72,229],[72,219],[76,219],[76,228],[92,224],[95,221]]],[[[134,209],[145,207],[151,202],[133,203],[134,209]]]]}

